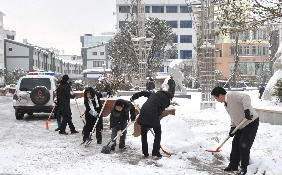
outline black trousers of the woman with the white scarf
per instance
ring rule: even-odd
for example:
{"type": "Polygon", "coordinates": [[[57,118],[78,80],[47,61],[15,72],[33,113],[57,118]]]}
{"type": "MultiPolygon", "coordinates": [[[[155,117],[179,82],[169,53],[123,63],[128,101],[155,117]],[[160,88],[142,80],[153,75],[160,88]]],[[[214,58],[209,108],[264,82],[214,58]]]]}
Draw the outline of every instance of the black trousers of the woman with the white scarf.
{"type": "MultiPolygon", "coordinates": [[[[103,116],[101,115],[99,120],[101,120],[103,116]]],[[[85,115],[85,128],[84,128],[84,134],[83,134],[83,141],[85,141],[87,138],[89,138],[89,134],[92,132],[92,129],[97,121],[97,118],[92,115],[85,115]]],[[[102,127],[101,122],[98,121],[96,125],[96,139],[97,142],[102,142],[102,127]]],[[[94,131],[95,131],[94,130],[94,131]]]]}

